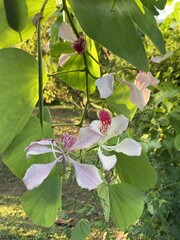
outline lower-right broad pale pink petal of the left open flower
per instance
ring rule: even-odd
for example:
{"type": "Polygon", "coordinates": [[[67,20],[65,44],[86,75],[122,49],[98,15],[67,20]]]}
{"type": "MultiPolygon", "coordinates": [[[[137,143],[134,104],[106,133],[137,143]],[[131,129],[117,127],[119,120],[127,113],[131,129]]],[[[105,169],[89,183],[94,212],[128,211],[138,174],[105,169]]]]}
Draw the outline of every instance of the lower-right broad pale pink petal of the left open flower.
{"type": "Polygon", "coordinates": [[[98,169],[90,164],[77,163],[70,159],[76,171],[76,181],[81,188],[92,190],[97,188],[103,181],[98,169]]]}

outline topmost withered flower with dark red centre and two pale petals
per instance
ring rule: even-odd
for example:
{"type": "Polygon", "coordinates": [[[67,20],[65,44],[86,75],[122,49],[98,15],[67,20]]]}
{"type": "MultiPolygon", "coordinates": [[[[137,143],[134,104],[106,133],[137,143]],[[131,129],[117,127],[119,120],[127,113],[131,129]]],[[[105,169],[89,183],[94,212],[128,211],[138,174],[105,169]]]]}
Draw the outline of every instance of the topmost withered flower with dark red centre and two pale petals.
{"type": "MultiPolygon", "coordinates": [[[[66,22],[63,22],[59,27],[58,36],[64,39],[65,41],[72,43],[72,48],[78,53],[83,54],[86,50],[86,38],[84,35],[80,36],[79,38],[76,37],[72,28],[66,22]]],[[[68,59],[76,54],[73,53],[62,53],[59,57],[59,65],[61,67],[68,61],[68,59]]]]}

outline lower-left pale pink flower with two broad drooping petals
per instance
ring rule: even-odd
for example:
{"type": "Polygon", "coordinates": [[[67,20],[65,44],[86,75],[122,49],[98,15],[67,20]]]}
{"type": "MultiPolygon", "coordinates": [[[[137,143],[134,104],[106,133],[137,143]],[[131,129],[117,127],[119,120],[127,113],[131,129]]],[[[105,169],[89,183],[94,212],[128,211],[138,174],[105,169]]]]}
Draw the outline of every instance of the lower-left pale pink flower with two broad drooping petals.
{"type": "Polygon", "coordinates": [[[57,163],[66,164],[70,162],[76,172],[76,180],[81,188],[95,189],[103,181],[98,169],[91,164],[81,164],[69,157],[70,148],[74,145],[76,138],[71,135],[63,135],[60,141],[54,139],[42,139],[32,142],[26,148],[26,157],[53,153],[55,160],[46,164],[33,164],[27,171],[23,181],[28,190],[38,187],[48,177],[57,163]]]}

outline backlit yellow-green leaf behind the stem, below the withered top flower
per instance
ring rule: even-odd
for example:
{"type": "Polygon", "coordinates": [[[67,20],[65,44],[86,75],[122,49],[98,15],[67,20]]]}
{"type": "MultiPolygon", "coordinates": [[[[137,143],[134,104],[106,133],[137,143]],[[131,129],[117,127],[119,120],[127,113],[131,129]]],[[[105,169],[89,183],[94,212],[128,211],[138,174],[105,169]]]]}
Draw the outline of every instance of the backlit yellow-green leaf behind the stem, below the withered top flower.
{"type": "MultiPolygon", "coordinates": [[[[96,47],[94,41],[89,38],[86,38],[87,41],[87,50],[91,53],[91,55],[98,60],[98,55],[96,51],[96,47]]],[[[72,52],[74,50],[72,49],[72,52]]],[[[93,76],[96,78],[100,77],[100,67],[99,65],[89,56],[86,55],[88,69],[93,76]]],[[[61,70],[71,71],[75,70],[75,72],[69,72],[64,74],[59,74],[59,77],[69,86],[78,89],[80,91],[86,91],[86,73],[80,72],[76,70],[84,69],[84,60],[83,56],[79,54],[74,54],[70,57],[67,63],[64,65],[61,70]]],[[[95,79],[88,75],[88,85],[89,85],[89,93],[92,94],[95,91],[95,79]]]]}

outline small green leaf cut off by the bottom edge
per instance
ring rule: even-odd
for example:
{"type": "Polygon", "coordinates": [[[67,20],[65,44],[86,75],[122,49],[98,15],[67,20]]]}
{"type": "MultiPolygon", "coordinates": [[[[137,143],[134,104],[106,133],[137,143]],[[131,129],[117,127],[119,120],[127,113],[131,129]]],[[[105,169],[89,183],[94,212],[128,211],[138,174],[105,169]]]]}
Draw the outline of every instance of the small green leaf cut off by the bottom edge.
{"type": "Polygon", "coordinates": [[[85,219],[81,219],[72,231],[71,240],[85,240],[89,232],[89,222],[85,219]]]}

